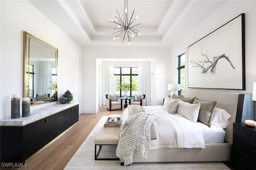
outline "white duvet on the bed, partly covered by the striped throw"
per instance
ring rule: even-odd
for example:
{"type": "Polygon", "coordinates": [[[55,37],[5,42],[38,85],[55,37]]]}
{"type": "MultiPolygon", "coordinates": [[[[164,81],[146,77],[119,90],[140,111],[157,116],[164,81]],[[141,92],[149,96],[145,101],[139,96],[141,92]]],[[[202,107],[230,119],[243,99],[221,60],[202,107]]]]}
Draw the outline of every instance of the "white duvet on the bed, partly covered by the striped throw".
{"type": "MultiPolygon", "coordinates": [[[[151,140],[150,150],[158,148],[205,148],[200,125],[189,121],[179,114],[171,115],[164,111],[162,106],[145,106],[143,108],[146,112],[157,115],[154,121],[156,140],[151,140]]],[[[122,123],[127,118],[128,109],[122,113],[122,123]]],[[[122,158],[120,141],[117,146],[116,156],[122,158]]]]}

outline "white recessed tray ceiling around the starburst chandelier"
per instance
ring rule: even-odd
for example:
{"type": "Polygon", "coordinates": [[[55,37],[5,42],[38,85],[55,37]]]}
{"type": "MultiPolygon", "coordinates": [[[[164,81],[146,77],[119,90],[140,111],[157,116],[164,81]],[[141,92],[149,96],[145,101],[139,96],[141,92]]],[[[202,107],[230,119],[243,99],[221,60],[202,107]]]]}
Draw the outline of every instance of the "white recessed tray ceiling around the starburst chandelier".
{"type": "MultiPolygon", "coordinates": [[[[124,0],[29,0],[38,10],[82,47],[128,46],[113,40],[118,13],[123,18],[124,0]],[[118,10],[118,13],[116,12],[118,10]]],[[[223,0],[128,0],[128,17],[141,36],[129,46],[170,47],[213,12],[223,0]]]]}

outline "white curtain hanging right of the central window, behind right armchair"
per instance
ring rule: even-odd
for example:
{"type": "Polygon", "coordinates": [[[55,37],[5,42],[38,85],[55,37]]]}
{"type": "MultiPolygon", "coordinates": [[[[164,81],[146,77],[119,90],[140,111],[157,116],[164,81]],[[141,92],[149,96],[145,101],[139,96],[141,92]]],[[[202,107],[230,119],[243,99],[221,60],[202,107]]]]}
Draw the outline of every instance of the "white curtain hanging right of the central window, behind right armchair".
{"type": "Polygon", "coordinates": [[[138,61],[138,93],[146,95],[146,105],[151,104],[151,93],[150,93],[150,61],[138,61]]]}

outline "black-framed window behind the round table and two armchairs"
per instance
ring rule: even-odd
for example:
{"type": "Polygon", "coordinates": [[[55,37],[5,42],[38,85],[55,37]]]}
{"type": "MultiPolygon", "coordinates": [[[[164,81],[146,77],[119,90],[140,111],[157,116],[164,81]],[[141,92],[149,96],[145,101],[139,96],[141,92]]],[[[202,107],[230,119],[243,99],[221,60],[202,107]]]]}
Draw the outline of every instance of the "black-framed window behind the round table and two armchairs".
{"type": "Polygon", "coordinates": [[[115,67],[116,96],[134,97],[138,93],[138,67],[115,67]]]}

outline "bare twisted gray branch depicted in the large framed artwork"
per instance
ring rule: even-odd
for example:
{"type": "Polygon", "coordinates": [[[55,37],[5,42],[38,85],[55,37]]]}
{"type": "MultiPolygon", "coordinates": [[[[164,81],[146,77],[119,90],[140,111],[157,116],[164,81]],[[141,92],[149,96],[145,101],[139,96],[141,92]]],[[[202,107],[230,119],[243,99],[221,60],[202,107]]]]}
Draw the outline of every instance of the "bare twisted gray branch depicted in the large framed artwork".
{"type": "Polygon", "coordinates": [[[216,65],[219,61],[219,59],[224,58],[226,59],[230,65],[232,66],[233,69],[236,69],[235,66],[233,65],[233,63],[230,61],[229,57],[226,56],[226,54],[222,54],[219,56],[215,56],[212,57],[213,61],[211,61],[208,56],[207,56],[208,51],[206,50],[206,54],[203,54],[202,50],[201,50],[201,55],[206,57],[206,59],[204,61],[200,61],[198,60],[197,62],[193,60],[189,61],[190,63],[192,63],[192,67],[200,67],[202,69],[202,73],[206,73],[209,69],[212,73],[214,73],[216,71],[216,65]],[[205,63],[210,63],[210,65],[208,65],[207,67],[204,66],[205,63]]]}

